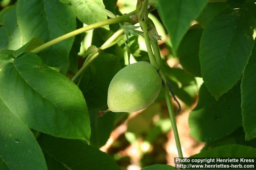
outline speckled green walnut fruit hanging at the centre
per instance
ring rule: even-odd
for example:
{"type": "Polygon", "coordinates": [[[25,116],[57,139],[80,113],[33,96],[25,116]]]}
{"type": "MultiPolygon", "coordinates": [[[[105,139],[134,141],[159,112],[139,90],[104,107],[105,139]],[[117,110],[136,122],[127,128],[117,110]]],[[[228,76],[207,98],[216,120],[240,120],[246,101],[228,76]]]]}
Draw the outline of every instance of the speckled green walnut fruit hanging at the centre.
{"type": "Polygon", "coordinates": [[[120,70],[108,87],[108,111],[133,112],[152,104],[161,89],[156,68],[140,61],[120,70]]]}

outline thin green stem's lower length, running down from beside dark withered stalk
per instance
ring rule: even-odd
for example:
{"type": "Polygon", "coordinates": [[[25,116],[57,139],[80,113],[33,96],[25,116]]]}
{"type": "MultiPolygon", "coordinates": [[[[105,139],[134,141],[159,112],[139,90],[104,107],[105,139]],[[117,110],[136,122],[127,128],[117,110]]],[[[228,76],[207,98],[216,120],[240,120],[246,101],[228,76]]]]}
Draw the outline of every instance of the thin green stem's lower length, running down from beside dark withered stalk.
{"type": "Polygon", "coordinates": [[[166,99],[166,104],[168,107],[168,111],[169,111],[169,115],[170,115],[170,119],[171,119],[171,123],[172,123],[172,129],[173,129],[173,133],[174,133],[174,139],[175,139],[175,143],[176,143],[176,147],[178,150],[178,154],[180,158],[183,158],[183,154],[182,154],[182,149],[181,149],[181,145],[180,145],[180,137],[178,134],[178,129],[177,129],[177,125],[176,125],[176,120],[175,120],[175,116],[174,116],[174,111],[172,109],[172,102],[170,100],[170,93],[168,90],[168,87],[166,85],[166,83],[163,83],[163,88],[164,88],[164,96],[166,99]]]}

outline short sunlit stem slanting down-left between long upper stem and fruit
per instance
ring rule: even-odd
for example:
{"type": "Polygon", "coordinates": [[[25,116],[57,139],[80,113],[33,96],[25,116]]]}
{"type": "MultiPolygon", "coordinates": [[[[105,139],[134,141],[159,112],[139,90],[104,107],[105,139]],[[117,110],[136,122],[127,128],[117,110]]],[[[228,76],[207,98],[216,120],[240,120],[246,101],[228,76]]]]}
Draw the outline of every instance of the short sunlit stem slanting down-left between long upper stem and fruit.
{"type": "MultiPolygon", "coordinates": [[[[116,43],[118,43],[118,41],[121,40],[120,35],[122,35],[124,33],[123,29],[120,29],[118,31],[116,31],[102,46],[101,48],[106,49],[109,48],[113,45],[115,45],[116,43]]],[[[72,77],[72,81],[74,82],[83,72],[84,70],[86,70],[86,68],[89,66],[89,64],[96,58],[98,57],[100,53],[97,52],[95,54],[89,55],[86,60],[84,61],[83,66],[78,70],[78,72],[72,77]]]]}

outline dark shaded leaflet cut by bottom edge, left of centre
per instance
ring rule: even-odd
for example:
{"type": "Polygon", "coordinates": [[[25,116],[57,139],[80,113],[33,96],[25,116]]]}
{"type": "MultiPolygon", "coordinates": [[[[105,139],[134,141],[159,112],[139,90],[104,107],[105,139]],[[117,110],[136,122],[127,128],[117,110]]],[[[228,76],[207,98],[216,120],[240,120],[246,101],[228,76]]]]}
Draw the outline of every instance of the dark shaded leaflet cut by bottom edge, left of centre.
{"type": "Polygon", "coordinates": [[[84,141],[42,134],[38,139],[48,170],[120,170],[108,154],[84,141]]]}

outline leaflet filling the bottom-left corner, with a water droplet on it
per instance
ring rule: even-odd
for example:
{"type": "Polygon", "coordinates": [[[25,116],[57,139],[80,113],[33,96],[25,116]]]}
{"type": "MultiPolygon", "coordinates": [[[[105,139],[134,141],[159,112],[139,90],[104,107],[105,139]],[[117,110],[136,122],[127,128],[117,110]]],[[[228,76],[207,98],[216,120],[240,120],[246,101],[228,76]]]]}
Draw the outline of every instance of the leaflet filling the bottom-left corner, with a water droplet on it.
{"type": "Polygon", "coordinates": [[[44,155],[30,129],[0,99],[0,169],[47,170],[44,155]]]}

